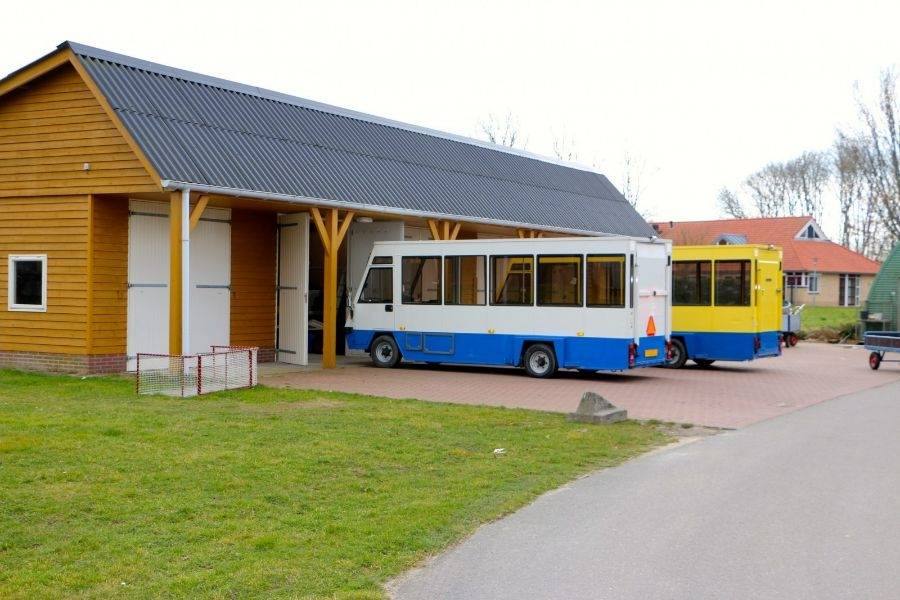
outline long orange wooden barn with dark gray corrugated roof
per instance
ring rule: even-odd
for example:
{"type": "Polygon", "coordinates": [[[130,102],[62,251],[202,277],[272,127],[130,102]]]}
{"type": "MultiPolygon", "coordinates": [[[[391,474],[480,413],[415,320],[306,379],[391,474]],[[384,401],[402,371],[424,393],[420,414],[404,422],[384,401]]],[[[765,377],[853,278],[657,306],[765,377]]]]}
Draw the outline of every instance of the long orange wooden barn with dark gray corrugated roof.
{"type": "Polygon", "coordinates": [[[66,42],[0,80],[0,367],[342,351],[375,240],[653,230],[575,165],[66,42]]]}

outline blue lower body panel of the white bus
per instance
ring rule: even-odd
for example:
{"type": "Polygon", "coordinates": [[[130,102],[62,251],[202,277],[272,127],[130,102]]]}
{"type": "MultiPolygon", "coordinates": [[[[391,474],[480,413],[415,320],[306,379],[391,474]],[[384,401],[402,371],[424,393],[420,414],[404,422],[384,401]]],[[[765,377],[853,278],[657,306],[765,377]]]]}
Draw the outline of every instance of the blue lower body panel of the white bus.
{"type": "MultiPolygon", "coordinates": [[[[592,371],[627,369],[628,346],[632,342],[631,338],[353,330],[347,335],[347,346],[354,350],[368,350],[376,333],[391,333],[400,346],[403,358],[416,362],[517,366],[522,362],[522,349],[526,344],[542,342],[553,345],[561,368],[592,371]]],[[[640,339],[636,367],[661,365],[665,358],[665,337],[640,339]]]]}

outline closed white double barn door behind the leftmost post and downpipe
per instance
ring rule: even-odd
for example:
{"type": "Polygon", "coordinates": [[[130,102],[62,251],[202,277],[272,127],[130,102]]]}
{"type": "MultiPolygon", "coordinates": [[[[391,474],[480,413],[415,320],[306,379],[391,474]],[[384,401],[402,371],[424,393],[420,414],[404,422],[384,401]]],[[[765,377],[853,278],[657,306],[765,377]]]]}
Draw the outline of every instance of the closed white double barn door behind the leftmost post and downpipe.
{"type": "MultiPolygon", "coordinates": [[[[191,232],[191,347],[227,345],[231,211],[207,208],[191,232]]],[[[169,205],[132,200],[128,218],[128,370],[138,352],[169,351],[169,205]]]]}

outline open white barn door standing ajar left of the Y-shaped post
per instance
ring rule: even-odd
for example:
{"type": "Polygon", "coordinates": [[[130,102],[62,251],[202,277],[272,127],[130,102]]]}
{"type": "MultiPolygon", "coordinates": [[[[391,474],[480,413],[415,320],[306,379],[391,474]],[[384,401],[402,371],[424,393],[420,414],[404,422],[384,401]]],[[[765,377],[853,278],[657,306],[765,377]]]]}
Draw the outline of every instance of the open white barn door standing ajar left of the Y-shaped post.
{"type": "Polygon", "coordinates": [[[278,215],[278,362],[309,361],[309,214],[278,215]]]}

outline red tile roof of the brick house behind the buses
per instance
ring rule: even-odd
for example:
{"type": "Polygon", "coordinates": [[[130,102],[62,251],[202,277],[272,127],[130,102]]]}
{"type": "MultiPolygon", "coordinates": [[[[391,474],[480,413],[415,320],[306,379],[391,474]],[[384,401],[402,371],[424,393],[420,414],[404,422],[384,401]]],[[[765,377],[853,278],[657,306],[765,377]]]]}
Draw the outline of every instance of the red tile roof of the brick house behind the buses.
{"type": "Polygon", "coordinates": [[[746,238],[748,244],[773,244],[784,251],[785,271],[875,274],[881,264],[826,239],[797,239],[812,217],[665,221],[654,223],[663,238],[676,246],[712,244],[721,235],[746,238]]]}

